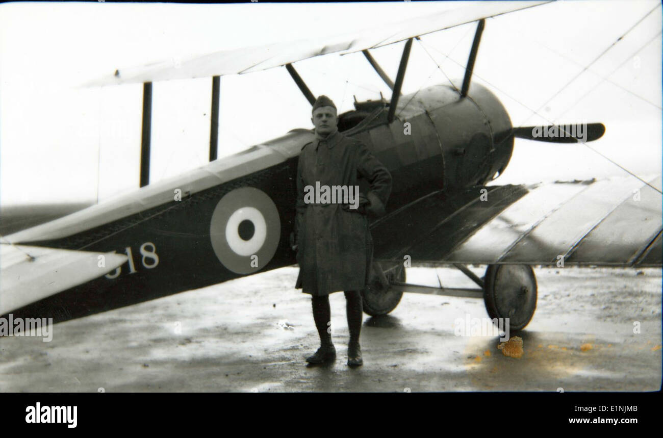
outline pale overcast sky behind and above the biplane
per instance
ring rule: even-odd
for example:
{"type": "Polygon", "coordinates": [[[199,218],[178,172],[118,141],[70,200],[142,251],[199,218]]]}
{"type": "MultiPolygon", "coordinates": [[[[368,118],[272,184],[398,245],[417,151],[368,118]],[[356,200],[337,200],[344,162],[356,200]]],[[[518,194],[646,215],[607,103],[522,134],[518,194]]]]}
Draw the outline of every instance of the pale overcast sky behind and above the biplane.
{"type": "MultiPolygon", "coordinates": [[[[440,7],[0,5],[0,204],[103,201],[138,187],[142,85],[83,83],[154,61],[392,25],[440,7]]],[[[514,126],[601,121],[607,131],[592,147],[640,176],[660,174],[661,17],[658,0],[608,0],[557,2],[489,19],[473,80],[498,95],[514,126]]],[[[462,78],[475,26],[415,41],[403,92],[462,78]]],[[[392,78],[402,44],[373,51],[392,78]]],[[[353,95],[391,96],[361,53],[294,66],[339,112],[352,109],[353,95]]],[[[211,78],[154,83],[151,182],[206,164],[210,96],[211,78]]],[[[219,156],[298,127],[311,127],[310,105],[285,68],[221,78],[219,156]]],[[[586,146],[518,139],[496,183],[612,175],[625,173],[586,146]]]]}

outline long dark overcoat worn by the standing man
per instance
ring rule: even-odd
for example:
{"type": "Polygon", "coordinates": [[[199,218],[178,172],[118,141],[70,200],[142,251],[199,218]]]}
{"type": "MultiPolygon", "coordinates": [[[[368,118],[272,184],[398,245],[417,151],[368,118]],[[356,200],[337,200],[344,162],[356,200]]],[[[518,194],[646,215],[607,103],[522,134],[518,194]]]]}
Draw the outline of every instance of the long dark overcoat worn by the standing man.
{"type": "Polygon", "coordinates": [[[314,296],[365,288],[373,256],[367,214],[384,214],[391,193],[387,168],[359,140],[337,130],[327,137],[316,133],[299,156],[297,193],[295,241],[300,272],[295,287],[314,296]],[[359,208],[339,203],[346,199],[336,203],[307,199],[305,190],[310,193],[316,183],[320,188],[358,186],[359,208]]]}

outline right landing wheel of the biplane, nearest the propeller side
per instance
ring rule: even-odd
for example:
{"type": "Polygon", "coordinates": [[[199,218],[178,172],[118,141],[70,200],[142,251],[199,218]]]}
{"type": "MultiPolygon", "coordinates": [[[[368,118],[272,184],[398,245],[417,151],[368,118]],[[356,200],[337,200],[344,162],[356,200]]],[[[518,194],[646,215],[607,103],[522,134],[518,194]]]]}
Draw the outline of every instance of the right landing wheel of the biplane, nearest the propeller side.
{"type": "Polygon", "coordinates": [[[509,330],[522,330],[536,310],[536,277],[528,264],[490,264],[483,279],[488,315],[509,318],[509,330]]]}

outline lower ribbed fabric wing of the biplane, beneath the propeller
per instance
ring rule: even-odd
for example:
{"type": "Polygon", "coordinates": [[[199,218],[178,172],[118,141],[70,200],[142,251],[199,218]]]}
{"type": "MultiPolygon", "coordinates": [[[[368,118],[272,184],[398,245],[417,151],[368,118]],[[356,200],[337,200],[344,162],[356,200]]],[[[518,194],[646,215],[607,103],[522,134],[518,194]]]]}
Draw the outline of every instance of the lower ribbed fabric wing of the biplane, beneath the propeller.
{"type": "MultiPolygon", "coordinates": [[[[660,176],[650,182],[660,187],[660,176]]],[[[662,195],[636,178],[436,192],[373,224],[383,260],[662,266],[662,195]],[[485,190],[481,197],[482,190],[485,190]],[[483,200],[482,200],[483,199],[483,200]]]]}

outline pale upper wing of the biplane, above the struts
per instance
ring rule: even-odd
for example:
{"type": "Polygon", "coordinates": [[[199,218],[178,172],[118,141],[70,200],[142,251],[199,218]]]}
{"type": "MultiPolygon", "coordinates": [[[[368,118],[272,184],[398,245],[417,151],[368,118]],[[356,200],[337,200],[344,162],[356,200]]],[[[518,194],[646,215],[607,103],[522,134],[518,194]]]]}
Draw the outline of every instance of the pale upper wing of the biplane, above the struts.
{"type": "Polygon", "coordinates": [[[463,5],[448,2],[434,15],[416,17],[399,23],[383,24],[362,32],[337,36],[307,37],[298,41],[277,42],[265,46],[220,50],[188,60],[152,62],[138,68],[123,68],[115,74],[87,85],[154,82],[174,79],[204,78],[243,74],[284,66],[291,62],[324,54],[347,54],[377,48],[394,42],[451,28],[480,19],[526,9],[548,1],[475,1],[463,5]]]}

